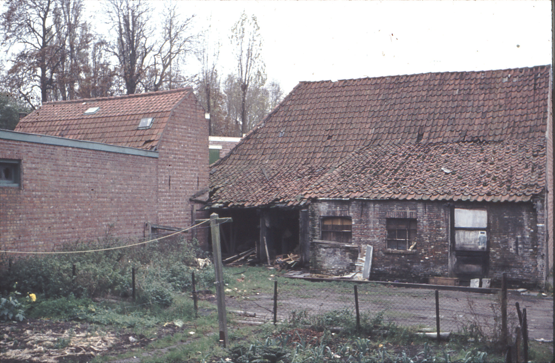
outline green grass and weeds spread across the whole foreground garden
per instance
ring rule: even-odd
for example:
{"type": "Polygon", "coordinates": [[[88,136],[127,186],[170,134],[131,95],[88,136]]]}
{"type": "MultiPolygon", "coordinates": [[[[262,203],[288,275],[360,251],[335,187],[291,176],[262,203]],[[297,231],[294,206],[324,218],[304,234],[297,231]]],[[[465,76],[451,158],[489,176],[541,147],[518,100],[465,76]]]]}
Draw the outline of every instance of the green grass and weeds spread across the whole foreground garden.
{"type": "MultiPolygon", "coordinates": [[[[107,242],[112,246],[118,244],[117,241],[107,242]]],[[[95,244],[72,247],[93,249],[95,244]]],[[[120,344],[123,345],[110,348],[109,353],[89,357],[97,362],[139,355],[145,363],[504,361],[490,332],[490,328],[497,329],[495,321],[490,322],[492,326],[485,326],[481,320],[476,320],[475,325],[453,334],[450,341],[438,343],[418,334],[420,326],[396,325],[387,318],[386,311],[361,311],[357,327],[354,311],[349,308],[325,313],[297,310],[280,324],[259,326],[238,324],[235,316],[228,312],[230,346],[223,349],[218,345],[214,302],[199,300],[197,317],[190,298],[193,270],[199,281],[197,288],[214,291],[213,268],[190,266],[198,257],[205,255],[194,245],[179,242],[125,251],[33,258],[27,259],[27,263],[23,259],[14,260],[9,274],[3,274],[6,279],[1,284],[3,294],[11,293],[21,301],[29,319],[70,322],[73,325],[65,326],[80,325],[92,335],[104,334],[97,333],[102,331],[117,332],[112,336],[122,337],[120,344]],[[75,277],[72,276],[74,263],[75,277]],[[39,269],[34,271],[32,264],[39,269]],[[129,297],[132,267],[137,272],[135,301],[129,297]],[[99,280],[92,281],[95,278],[99,280]],[[16,280],[16,287],[8,285],[15,284],[16,280]],[[22,294],[16,295],[15,290],[22,294]],[[36,301],[30,300],[28,292],[37,294],[36,301]],[[131,337],[136,341],[128,339],[131,337]]],[[[2,262],[5,263],[5,259],[2,262]]],[[[234,299],[250,296],[256,301],[260,296],[257,293],[273,291],[275,279],[279,279],[281,292],[295,295],[320,292],[324,286],[305,280],[285,280],[266,267],[225,268],[225,276],[226,289],[234,299]]],[[[352,287],[345,288],[346,284],[332,285],[337,294],[352,294],[352,287]]],[[[393,293],[381,286],[376,286],[376,290],[393,293]]],[[[12,331],[17,331],[17,323],[3,323],[3,326],[13,326],[12,331]]],[[[10,336],[12,342],[16,340],[10,336]]],[[[72,339],[72,336],[60,337],[48,349],[68,349],[73,344],[72,339]]],[[[24,346],[24,342],[19,346],[24,346]]],[[[536,342],[531,344],[529,356],[533,361],[552,359],[549,349],[536,342]]]]}

